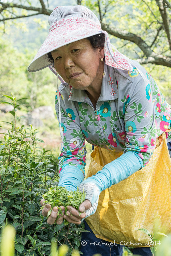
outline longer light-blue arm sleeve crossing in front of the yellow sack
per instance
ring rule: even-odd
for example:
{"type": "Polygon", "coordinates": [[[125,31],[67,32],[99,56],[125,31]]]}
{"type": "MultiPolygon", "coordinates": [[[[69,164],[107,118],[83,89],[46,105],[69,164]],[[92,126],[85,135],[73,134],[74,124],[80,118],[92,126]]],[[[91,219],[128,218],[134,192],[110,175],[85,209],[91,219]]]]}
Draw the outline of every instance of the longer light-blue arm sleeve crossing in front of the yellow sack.
{"type": "Polygon", "coordinates": [[[143,167],[142,159],[135,152],[126,152],[114,161],[105,165],[101,171],[88,177],[82,184],[94,183],[100,188],[100,192],[118,182],[125,180],[134,172],[143,167]]]}

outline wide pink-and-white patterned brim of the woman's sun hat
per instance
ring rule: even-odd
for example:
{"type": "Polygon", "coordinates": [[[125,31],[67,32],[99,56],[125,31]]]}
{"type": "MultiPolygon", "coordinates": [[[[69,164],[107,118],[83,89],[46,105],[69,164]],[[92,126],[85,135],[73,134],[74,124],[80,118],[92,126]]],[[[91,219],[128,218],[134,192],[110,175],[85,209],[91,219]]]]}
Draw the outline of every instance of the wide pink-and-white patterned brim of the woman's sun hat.
{"type": "Polygon", "coordinates": [[[48,61],[47,53],[69,43],[103,33],[102,30],[98,30],[98,28],[84,23],[77,23],[76,28],[75,25],[63,25],[62,31],[64,32],[61,33],[61,27],[58,27],[49,32],[38,53],[30,63],[28,71],[35,72],[52,65],[48,61]]]}

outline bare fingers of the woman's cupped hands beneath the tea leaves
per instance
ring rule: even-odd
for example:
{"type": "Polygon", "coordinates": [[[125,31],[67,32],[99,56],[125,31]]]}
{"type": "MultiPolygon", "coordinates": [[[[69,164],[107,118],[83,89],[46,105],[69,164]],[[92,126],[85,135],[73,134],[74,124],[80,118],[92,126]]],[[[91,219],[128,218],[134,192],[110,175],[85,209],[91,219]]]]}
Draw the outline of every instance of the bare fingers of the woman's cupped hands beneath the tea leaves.
{"type": "MultiPolygon", "coordinates": [[[[42,199],[40,201],[41,206],[44,205],[44,199],[42,199]]],[[[85,218],[86,214],[84,211],[88,210],[91,207],[91,203],[89,200],[85,200],[84,202],[82,202],[80,204],[79,210],[81,213],[81,215],[79,215],[79,211],[76,210],[74,207],[72,206],[67,206],[68,211],[65,214],[65,207],[64,206],[60,206],[61,210],[62,210],[62,215],[59,214],[58,220],[56,221],[57,218],[57,214],[58,214],[58,208],[55,206],[52,209],[51,215],[49,215],[48,219],[47,219],[47,223],[53,225],[56,221],[56,224],[61,224],[63,222],[63,218],[66,219],[68,222],[74,223],[74,224],[81,224],[81,220],[83,218],[85,218]]],[[[44,208],[42,210],[42,215],[43,216],[47,216],[48,211],[51,210],[51,205],[46,203],[44,205],[44,208]]]]}

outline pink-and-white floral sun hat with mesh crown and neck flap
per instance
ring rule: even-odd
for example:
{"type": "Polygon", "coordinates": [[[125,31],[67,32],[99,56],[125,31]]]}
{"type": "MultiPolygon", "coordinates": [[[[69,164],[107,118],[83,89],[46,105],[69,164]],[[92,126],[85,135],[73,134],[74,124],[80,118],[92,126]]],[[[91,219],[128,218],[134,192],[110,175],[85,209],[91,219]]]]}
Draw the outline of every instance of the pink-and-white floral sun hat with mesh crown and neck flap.
{"type": "MultiPolygon", "coordinates": [[[[108,66],[133,70],[129,59],[117,49],[112,51],[109,35],[101,30],[97,16],[88,8],[82,5],[58,6],[48,18],[50,25],[49,34],[40,47],[38,53],[30,63],[28,71],[35,72],[44,69],[52,64],[48,61],[47,53],[66,45],[95,34],[104,33],[104,56],[108,66]]],[[[51,69],[52,66],[50,67],[51,69]]],[[[53,70],[55,73],[55,70],[53,70]]]]}

